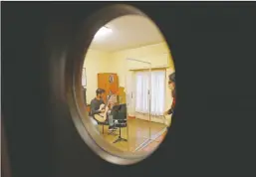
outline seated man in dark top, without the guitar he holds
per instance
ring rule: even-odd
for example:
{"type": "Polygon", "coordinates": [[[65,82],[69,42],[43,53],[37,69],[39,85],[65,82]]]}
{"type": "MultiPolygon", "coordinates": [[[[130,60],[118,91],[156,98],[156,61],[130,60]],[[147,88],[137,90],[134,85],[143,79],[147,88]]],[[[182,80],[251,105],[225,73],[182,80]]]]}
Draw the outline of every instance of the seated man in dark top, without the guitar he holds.
{"type": "MultiPolygon", "coordinates": [[[[105,104],[103,100],[103,93],[105,92],[104,89],[97,89],[96,90],[96,97],[91,101],[91,112],[90,115],[94,117],[95,114],[104,113],[106,111],[105,108],[100,110],[101,104],[105,104]]],[[[109,105],[108,105],[109,106],[109,105]]],[[[110,114],[110,110],[108,111],[108,122],[109,122],[109,130],[115,130],[113,116],[110,114]]]]}

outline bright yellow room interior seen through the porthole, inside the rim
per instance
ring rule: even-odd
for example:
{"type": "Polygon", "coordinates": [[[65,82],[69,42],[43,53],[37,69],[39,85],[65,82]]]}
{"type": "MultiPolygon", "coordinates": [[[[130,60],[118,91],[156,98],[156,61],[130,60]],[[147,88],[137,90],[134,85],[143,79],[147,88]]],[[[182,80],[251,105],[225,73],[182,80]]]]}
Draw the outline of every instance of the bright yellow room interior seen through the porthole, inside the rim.
{"type": "Polygon", "coordinates": [[[99,134],[123,151],[155,149],[171,125],[171,114],[164,112],[172,104],[168,89],[168,76],[172,73],[171,53],[149,19],[123,16],[102,27],[87,51],[83,66],[85,107],[90,117],[92,100],[101,89],[105,104],[113,103],[108,109],[124,107],[126,121],[113,115],[114,129],[110,130],[106,119],[93,117],[99,134]]]}

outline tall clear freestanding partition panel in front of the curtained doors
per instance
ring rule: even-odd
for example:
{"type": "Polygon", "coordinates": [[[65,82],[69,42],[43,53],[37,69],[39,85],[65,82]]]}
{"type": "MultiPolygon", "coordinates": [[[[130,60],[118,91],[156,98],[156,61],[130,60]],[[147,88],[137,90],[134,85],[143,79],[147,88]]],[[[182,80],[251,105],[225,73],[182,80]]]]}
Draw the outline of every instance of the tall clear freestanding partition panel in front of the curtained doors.
{"type": "Polygon", "coordinates": [[[127,59],[126,95],[129,151],[137,152],[150,139],[151,64],[127,59]]]}

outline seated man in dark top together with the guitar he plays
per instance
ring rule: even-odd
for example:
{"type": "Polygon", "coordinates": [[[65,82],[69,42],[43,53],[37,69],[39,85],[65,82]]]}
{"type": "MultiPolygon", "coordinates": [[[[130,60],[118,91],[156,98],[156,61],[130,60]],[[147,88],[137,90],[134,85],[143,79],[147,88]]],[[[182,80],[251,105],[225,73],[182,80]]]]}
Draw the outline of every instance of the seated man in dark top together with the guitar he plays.
{"type": "MultiPolygon", "coordinates": [[[[105,89],[97,89],[96,97],[91,101],[91,111],[90,115],[93,116],[97,121],[104,122],[108,119],[109,122],[109,130],[115,130],[115,124],[113,121],[113,117],[111,116],[111,110],[109,107],[111,106],[111,102],[108,101],[107,105],[103,100],[103,93],[105,89]]],[[[109,98],[110,99],[110,98],[109,98]]]]}

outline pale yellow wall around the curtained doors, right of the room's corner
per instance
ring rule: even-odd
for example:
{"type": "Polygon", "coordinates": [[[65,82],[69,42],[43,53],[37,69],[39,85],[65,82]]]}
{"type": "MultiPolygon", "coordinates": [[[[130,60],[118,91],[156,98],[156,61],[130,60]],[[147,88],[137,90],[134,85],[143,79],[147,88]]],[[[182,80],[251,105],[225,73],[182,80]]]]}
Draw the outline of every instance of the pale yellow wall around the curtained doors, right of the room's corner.
{"type": "MultiPolygon", "coordinates": [[[[127,60],[128,58],[150,62],[152,64],[152,68],[165,68],[166,78],[170,73],[174,71],[172,58],[165,43],[143,46],[140,48],[128,49],[112,53],[110,60],[112,67],[110,70],[119,75],[120,86],[127,89],[128,96],[130,96],[131,91],[134,92],[134,88],[132,87],[134,86],[132,85],[132,81],[134,81],[132,76],[133,71],[129,71],[129,69],[138,70],[148,67],[148,65],[138,62],[129,62],[127,60]]],[[[165,109],[167,109],[171,104],[171,95],[169,89],[167,89],[167,81],[165,94],[165,109]]],[[[129,99],[129,101],[130,103],[134,103],[134,100],[129,99]]]]}

